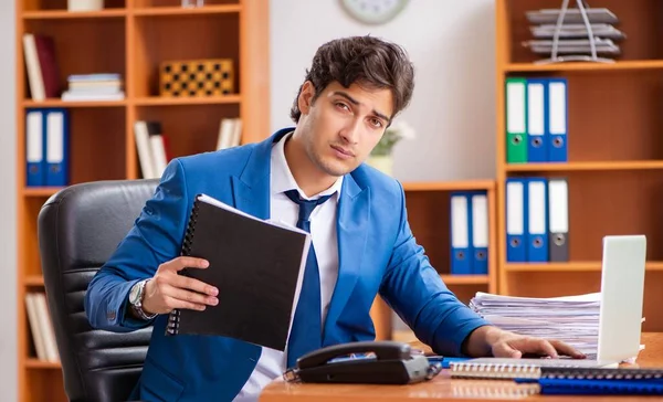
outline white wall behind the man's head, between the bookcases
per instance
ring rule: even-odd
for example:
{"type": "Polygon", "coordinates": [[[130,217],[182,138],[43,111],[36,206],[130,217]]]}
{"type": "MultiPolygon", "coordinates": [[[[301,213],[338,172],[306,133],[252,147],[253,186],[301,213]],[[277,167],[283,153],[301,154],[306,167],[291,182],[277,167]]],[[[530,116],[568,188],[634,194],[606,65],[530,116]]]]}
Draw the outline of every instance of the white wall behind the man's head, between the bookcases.
{"type": "Polygon", "coordinates": [[[412,103],[401,118],[417,139],[394,148],[400,180],[495,178],[493,0],[410,0],[385,25],[364,25],[339,0],[272,0],[272,130],[292,125],[290,106],[316,49],[338,36],[397,42],[415,66],[412,103]]]}

